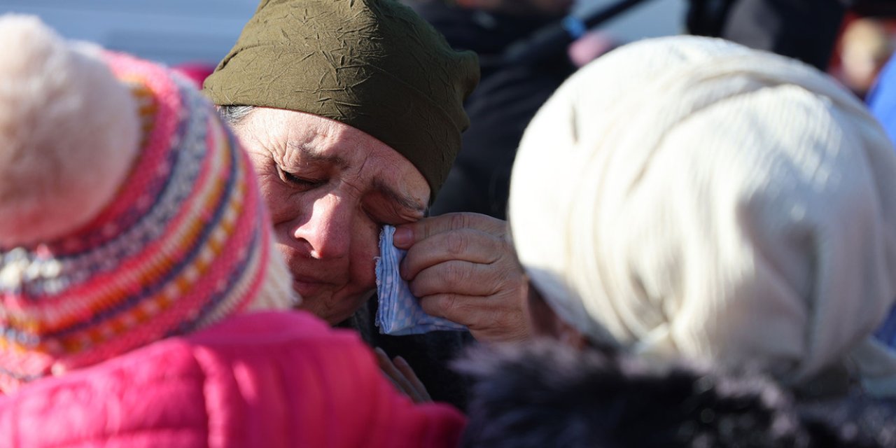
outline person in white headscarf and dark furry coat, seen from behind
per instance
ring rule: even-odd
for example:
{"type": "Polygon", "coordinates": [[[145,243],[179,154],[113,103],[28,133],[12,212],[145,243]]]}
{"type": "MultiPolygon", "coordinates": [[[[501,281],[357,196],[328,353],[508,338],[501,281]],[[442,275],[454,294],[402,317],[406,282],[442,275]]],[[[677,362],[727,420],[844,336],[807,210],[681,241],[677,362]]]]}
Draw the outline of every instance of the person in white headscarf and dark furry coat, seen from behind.
{"type": "Polygon", "coordinates": [[[894,191],[892,143],[811,66],[694,36],[601,56],[513,165],[533,327],[568,349],[468,361],[465,445],[893,446],[894,191]]]}

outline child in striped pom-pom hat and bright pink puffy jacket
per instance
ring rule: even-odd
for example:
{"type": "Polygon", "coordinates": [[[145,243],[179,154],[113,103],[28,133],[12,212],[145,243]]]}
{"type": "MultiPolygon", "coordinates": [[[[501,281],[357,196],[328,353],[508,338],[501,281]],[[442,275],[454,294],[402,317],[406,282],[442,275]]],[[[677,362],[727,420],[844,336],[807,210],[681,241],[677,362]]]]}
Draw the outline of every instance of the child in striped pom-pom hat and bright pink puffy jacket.
{"type": "Polygon", "coordinates": [[[0,446],[454,446],[304,311],[251,161],[185,78],[0,17],[0,446]]]}

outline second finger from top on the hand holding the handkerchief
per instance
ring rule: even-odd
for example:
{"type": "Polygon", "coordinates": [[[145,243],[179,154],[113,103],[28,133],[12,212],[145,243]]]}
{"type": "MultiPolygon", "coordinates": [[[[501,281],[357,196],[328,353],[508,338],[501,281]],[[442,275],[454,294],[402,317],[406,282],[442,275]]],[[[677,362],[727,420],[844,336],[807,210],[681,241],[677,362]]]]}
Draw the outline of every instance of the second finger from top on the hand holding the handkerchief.
{"type": "Polygon", "coordinates": [[[408,249],[401,261],[401,278],[411,280],[420,271],[452,260],[490,264],[512,254],[513,249],[502,238],[462,228],[427,237],[408,249]]]}

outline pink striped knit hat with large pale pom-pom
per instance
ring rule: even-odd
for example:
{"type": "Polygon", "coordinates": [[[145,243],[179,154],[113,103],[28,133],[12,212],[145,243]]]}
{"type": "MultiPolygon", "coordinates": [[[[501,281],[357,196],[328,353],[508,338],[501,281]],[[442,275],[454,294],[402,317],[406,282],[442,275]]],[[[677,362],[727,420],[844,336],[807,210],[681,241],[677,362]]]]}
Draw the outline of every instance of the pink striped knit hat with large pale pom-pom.
{"type": "Polygon", "coordinates": [[[295,304],[250,161],[188,81],[26,16],[0,46],[0,389],[295,304]]]}

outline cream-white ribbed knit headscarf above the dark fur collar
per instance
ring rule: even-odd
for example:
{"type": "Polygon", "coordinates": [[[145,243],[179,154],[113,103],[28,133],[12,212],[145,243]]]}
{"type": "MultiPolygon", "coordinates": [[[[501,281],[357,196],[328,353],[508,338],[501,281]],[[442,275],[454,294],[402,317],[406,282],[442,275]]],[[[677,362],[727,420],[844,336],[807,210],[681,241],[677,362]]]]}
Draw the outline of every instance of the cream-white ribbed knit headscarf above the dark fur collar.
{"type": "Polygon", "coordinates": [[[869,337],[896,297],[896,155],[807,65],[690,36],[599,58],[527,129],[509,216],[530,279],[594,340],[795,385],[848,365],[896,392],[869,337]]]}

